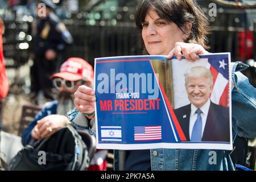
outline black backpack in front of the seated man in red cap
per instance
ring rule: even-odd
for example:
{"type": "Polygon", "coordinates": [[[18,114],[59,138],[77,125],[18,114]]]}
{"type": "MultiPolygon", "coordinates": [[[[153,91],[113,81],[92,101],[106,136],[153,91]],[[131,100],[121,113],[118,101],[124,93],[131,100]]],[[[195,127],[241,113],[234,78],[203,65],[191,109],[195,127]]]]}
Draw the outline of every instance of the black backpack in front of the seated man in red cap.
{"type": "Polygon", "coordinates": [[[7,166],[9,171],[76,171],[88,168],[86,144],[72,126],[65,126],[51,137],[24,146],[7,166]]]}

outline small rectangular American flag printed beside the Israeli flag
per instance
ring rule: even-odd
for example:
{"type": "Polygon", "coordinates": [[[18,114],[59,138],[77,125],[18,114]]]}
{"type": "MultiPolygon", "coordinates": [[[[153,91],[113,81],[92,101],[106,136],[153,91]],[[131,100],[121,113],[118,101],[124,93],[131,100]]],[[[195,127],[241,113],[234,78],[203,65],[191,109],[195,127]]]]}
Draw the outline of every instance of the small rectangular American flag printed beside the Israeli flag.
{"type": "Polygon", "coordinates": [[[134,126],[134,141],[162,140],[162,126],[134,126]]]}

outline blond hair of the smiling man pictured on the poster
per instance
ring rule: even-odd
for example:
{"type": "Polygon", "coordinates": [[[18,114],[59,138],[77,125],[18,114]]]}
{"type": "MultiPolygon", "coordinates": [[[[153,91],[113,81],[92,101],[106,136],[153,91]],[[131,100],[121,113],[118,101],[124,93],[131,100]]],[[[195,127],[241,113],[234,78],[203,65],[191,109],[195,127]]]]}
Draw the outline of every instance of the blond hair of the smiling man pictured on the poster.
{"type": "Polygon", "coordinates": [[[192,67],[189,69],[187,73],[184,74],[185,76],[185,85],[187,85],[187,78],[188,77],[205,77],[208,78],[209,84],[212,86],[213,84],[213,76],[212,73],[210,72],[209,69],[202,67],[202,66],[197,66],[197,67],[192,67]]]}

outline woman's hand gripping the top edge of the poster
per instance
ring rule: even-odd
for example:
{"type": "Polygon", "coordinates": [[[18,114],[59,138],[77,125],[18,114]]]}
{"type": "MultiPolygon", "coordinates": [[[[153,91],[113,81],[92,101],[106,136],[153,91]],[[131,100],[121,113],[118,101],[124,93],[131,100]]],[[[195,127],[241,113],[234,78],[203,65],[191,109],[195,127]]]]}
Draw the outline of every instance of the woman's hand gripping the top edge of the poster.
{"type": "Polygon", "coordinates": [[[168,53],[167,59],[172,59],[172,57],[176,56],[178,60],[181,60],[182,55],[184,55],[185,59],[188,61],[195,61],[200,58],[198,55],[208,53],[209,52],[199,44],[177,42],[175,43],[174,49],[168,53]]]}

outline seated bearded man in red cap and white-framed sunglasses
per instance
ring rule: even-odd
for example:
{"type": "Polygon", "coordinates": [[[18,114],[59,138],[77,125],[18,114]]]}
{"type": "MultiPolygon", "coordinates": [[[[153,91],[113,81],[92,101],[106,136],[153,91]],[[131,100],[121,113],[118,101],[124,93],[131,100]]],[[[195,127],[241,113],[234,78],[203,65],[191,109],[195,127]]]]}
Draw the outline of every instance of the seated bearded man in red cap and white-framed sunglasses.
{"type": "MultiPolygon", "coordinates": [[[[79,57],[71,57],[66,60],[60,67],[60,72],[51,76],[53,85],[59,90],[57,100],[48,102],[43,109],[36,115],[34,121],[28,125],[22,134],[22,144],[26,146],[31,139],[43,139],[51,137],[61,127],[69,124],[66,117],[67,112],[75,108],[73,103],[73,93],[76,92],[80,85],[93,86],[93,68],[92,66],[79,57]]],[[[101,165],[88,169],[106,169],[106,154],[108,151],[100,151],[103,158],[101,165]]],[[[99,155],[95,155],[99,157],[99,155]]],[[[94,160],[94,158],[93,158],[94,160]]]]}

